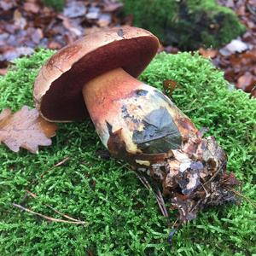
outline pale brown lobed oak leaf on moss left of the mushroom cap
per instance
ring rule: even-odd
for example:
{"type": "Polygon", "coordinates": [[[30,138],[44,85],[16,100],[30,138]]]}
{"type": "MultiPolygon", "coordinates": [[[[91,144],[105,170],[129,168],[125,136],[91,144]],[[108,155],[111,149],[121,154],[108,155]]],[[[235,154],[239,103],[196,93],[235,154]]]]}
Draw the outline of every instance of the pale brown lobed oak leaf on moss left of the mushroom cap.
{"type": "Polygon", "coordinates": [[[14,152],[21,147],[37,153],[39,145],[51,144],[50,137],[55,136],[56,130],[57,126],[44,120],[35,108],[23,106],[14,114],[6,108],[0,113],[0,143],[14,152]]]}

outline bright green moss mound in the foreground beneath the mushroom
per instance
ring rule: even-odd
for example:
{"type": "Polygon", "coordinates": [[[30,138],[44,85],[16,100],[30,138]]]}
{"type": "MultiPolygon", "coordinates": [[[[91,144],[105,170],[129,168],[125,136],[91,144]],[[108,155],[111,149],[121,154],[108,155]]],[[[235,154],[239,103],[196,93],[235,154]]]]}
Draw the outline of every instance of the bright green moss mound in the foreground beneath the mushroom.
{"type": "MultiPolygon", "coordinates": [[[[32,107],[32,84],[38,68],[51,55],[40,50],[19,59],[0,78],[0,110],[32,107]]],[[[141,79],[160,89],[175,79],[177,106],[229,155],[229,170],[243,183],[242,193],[255,200],[256,101],[241,90],[227,90],[223,73],[199,55],[156,56],[141,79]],[[255,182],[255,181],[254,181],[255,182]]],[[[19,154],[0,147],[0,254],[1,255],[251,255],[255,252],[256,214],[251,204],[216,207],[201,212],[166,242],[168,224],[160,216],[154,195],[124,163],[102,160],[102,143],[89,120],[61,124],[53,144],[39,154],[19,154]],[[69,160],[54,165],[64,158],[69,160]],[[42,174],[44,176],[42,177],[42,174]],[[26,198],[26,189],[38,195],[26,198]],[[13,203],[61,218],[45,204],[89,224],[50,223],[13,203]]],[[[175,221],[171,212],[171,223],[175,221]]]]}

